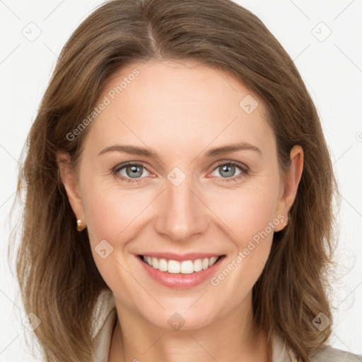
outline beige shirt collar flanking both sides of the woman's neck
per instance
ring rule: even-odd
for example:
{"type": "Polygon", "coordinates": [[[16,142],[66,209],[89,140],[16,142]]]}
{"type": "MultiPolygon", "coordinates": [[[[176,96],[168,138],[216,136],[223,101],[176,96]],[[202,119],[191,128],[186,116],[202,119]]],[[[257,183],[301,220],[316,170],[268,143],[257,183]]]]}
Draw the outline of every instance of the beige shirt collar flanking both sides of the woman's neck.
{"type": "MultiPolygon", "coordinates": [[[[92,315],[92,339],[94,362],[107,362],[113,329],[117,322],[117,310],[112,291],[100,293],[92,315]]],[[[274,334],[271,341],[272,362],[298,362],[291,348],[279,335],[274,334]]]]}

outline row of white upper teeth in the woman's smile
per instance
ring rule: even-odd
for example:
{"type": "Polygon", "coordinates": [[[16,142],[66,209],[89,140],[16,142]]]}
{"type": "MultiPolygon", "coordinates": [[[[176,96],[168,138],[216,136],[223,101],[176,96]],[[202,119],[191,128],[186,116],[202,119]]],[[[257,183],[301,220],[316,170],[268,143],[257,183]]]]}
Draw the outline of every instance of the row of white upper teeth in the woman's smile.
{"type": "Polygon", "coordinates": [[[172,274],[192,274],[212,267],[216,263],[218,257],[211,257],[210,259],[185,260],[184,262],[146,256],[143,256],[143,259],[144,262],[146,262],[150,267],[153,267],[153,269],[168,271],[172,274]]]}

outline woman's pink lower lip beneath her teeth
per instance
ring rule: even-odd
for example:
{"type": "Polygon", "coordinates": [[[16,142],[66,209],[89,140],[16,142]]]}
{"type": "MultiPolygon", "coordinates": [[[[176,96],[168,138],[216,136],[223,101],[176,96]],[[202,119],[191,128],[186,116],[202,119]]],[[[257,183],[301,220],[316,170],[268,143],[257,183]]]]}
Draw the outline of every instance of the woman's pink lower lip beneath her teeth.
{"type": "Polygon", "coordinates": [[[137,259],[139,259],[139,262],[141,263],[142,267],[144,267],[149,276],[151,276],[154,280],[158,281],[158,283],[164,286],[177,289],[191,288],[192,286],[197,286],[204,283],[204,281],[210,279],[211,276],[215,274],[216,269],[218,269],[224,258],[224,255],[222,257],[219,257],[216,263],[212,265],[212,267],[201,271],[194,271],[194,273],[191,274],[173,274],[169,273],[168,271],[160,271],[158,269],[154,269],[143,260],[141,260],[139,256],[137,256],[137,259]]]}

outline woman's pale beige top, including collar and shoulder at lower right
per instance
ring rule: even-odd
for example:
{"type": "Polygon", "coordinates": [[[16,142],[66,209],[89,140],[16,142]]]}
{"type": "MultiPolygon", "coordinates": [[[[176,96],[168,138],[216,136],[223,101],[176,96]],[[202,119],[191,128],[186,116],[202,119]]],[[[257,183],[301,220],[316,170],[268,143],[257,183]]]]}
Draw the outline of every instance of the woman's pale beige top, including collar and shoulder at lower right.
{"type": "MultiPolygon", "coordinates": [[[[113,328],[117,321],[115,298],[111,291],[103,291],[93,310],[94,362],[108,362],[113,328]]],[[[298,362],[293,350],[278,335],[272,340],[272,362],[298,362]]],[[[325,346],[312,357],[314,362],[362,362],[362,356],[325,346]]]]}

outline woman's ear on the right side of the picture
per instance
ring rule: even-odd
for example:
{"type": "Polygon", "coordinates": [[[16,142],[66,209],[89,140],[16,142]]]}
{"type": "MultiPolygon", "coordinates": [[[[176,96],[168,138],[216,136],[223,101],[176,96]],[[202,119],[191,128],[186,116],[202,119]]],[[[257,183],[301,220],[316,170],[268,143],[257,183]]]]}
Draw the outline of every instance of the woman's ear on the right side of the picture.
{"type": "Polygon", "coordinates": [[[293,146],[291,149],[291,168],[286,174],[286,180],[281,184],[279,200],[276,206],[275,217],[283,214],[284,221],[280,223],[279,226],[276,226],[274,231],[282,230],[288,223],[288,211],[291,209],[291,206],[296,199],[300,177],[302,177],[303,160],[303,148],[299,145],[293,146]]]}

